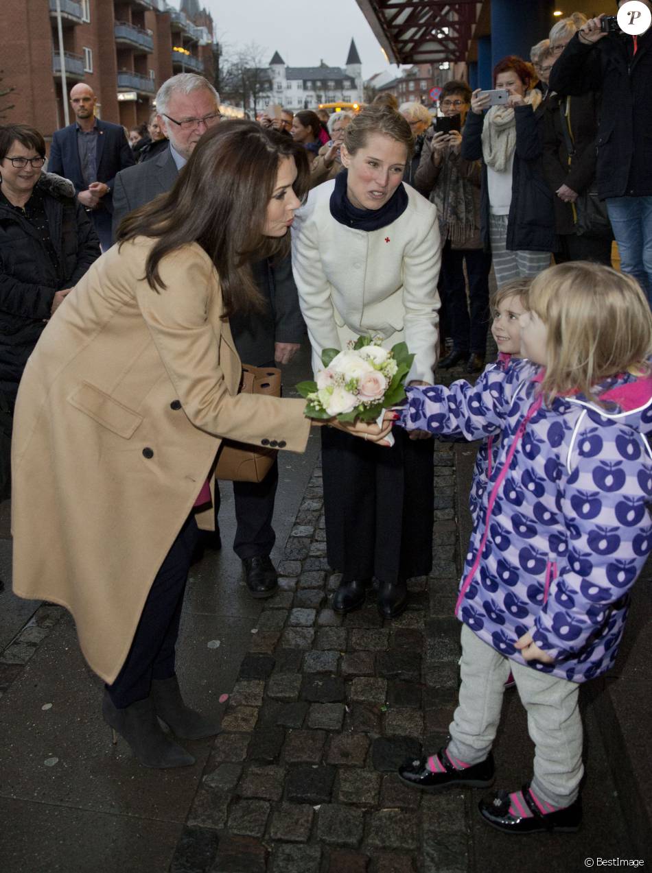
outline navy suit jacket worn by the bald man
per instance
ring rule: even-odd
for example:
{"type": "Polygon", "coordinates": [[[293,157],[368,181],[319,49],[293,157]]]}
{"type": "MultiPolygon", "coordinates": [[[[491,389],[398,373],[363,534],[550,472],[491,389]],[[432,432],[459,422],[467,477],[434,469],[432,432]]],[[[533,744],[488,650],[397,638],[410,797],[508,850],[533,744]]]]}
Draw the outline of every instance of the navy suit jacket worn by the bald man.
{"type": "MultiPolygon", "coordinates": [[[[100,133],[97,138],[97,179],[94,181],[108,185],[109,192],[101,198],[100,204],[102,208],[111,212],[115,175],[121,169],[133,166],[134,155],[131,153],[121,125],[98,119],[97,127],[100,133]]],[[[87,184],[81,175],[76,124],[69,124],[68,127],[55,132],[47,168],[50,173],[70,179],[76,194],[87,189],[87,184]]]]}

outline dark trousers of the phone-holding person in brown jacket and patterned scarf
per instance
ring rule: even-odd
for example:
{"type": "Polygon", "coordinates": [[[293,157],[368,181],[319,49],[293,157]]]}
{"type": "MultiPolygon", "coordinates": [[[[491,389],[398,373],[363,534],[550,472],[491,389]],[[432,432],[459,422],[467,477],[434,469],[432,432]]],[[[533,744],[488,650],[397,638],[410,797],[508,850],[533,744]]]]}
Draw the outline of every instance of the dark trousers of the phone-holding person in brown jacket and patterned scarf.
{"type": "Polygon", "coordinates": [[[489,329],[490,270],[491,255],[488,252],[482,249],[454,249],[450,240],[447,240],[441,252],[439,292],[444,312],[444,330],[453,340],[455,351],[475,352],[484,357],[489,329]]]}

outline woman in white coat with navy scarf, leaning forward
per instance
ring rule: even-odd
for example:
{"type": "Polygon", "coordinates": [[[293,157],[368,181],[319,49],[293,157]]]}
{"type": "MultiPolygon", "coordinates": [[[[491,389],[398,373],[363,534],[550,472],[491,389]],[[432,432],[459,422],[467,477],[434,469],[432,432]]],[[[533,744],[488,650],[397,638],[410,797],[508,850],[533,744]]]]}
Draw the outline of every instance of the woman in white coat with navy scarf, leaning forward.
{"type": "MultiPolygon", "coordinates": [[[[346,128],[345,169],[296,215],[293,269],[316,370],[324,348],[380,335],[386,347],[405,341],[414,354],[407,382],[433,382],[440,232],[434,205],[402,183],[412,151],[399,113],[367,107],[346,128]]],[[[399,432],[380,451],[326,430],[327,556],[343,574],[333,608],[362,606],[375,578],[380,614],[393,618],[406,608],[406,580],[432,566],[433,444],[399,432]]]]}

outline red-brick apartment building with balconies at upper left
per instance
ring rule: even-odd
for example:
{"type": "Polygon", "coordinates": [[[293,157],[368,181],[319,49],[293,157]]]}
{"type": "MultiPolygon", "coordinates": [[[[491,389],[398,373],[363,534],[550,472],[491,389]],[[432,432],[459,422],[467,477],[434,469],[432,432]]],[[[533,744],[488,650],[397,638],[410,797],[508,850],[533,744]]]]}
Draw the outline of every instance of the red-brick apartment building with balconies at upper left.
{"type": "MultiPolygon", "coordinates": [[[[212,17],[198,0],[59,0],[67,90],[91,86],[104,120],[146,121],[158,87],[177,72],[212,81],[212,17]]],[[[49,140],[64,127],[57,0],[4,0],[3,86],[13,86],[5,121],[49,140]]],[[[71,113],[71,120],[74,116],[71,113]]]]}

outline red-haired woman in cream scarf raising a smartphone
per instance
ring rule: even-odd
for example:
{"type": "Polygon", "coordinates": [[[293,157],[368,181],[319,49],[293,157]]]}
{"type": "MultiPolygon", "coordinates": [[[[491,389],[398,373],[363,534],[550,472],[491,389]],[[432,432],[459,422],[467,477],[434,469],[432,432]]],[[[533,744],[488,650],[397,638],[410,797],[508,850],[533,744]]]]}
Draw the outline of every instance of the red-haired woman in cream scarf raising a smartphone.
{"type": "Polygon", "coordinates": [[[461,142],[467,161],[482,159],[482,241],[498,286],[536,276],[556,248],[552,193],[543,174],[541,92],[531,66],[510,55],[494,68],[494,88],[509,92],[503,106],[473,93],[461,142]],[[485,111],[489,110],[486,114],[485,111]]]}

